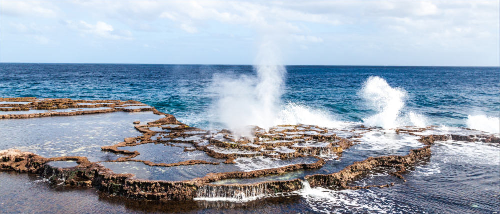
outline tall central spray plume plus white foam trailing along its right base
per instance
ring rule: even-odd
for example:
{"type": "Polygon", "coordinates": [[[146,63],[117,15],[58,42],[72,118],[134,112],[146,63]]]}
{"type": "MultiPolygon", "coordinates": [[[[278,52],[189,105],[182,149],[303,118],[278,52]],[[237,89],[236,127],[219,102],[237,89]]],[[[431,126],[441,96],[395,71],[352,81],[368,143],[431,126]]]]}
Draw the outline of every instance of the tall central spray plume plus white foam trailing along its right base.
{"type": "Polygon", "coordinates": [[[214,75],[212,92],[212,121],[222,123],[237,136],[251,136],[250,126],[268,130],[281,124],[314,124],[328,128],[344,127],[327,111],[289,102],[282,104],[286,69],[281,65],[273,43],[260,46],[254,66],[257,75],[237,78],[214,75]]]}

